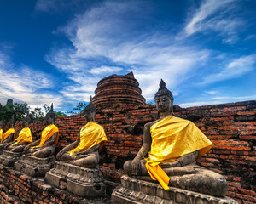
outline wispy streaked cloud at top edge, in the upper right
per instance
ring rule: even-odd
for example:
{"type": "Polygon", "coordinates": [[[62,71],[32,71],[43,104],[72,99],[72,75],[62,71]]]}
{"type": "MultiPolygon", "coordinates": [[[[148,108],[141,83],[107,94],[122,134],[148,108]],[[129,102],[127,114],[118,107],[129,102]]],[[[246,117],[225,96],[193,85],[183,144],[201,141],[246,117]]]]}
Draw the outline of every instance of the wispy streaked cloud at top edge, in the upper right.
{"type": "Polygon", "coordinates": [[[241,26],[245,28],[246,25],[246,20],[237,14],[241,13],[239,3],[240,1],[236,0],[202,1],[200,8],[185,26],[186,36],[215,31],[217,35],[223,37],[224,43],[237,42],[238,33],[242,31],[241,26]]]}

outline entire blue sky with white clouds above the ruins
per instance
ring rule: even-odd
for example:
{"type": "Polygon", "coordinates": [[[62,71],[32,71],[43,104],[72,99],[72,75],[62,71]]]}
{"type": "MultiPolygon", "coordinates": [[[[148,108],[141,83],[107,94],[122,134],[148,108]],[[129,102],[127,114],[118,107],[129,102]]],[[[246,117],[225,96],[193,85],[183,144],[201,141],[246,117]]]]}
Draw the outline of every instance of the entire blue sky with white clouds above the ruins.
{"type": "Polygon", "coordinates": [[[254,0],[0,0],[0,103],[72,110],[133,71],[182,107],[256,99],[254,0]]]}

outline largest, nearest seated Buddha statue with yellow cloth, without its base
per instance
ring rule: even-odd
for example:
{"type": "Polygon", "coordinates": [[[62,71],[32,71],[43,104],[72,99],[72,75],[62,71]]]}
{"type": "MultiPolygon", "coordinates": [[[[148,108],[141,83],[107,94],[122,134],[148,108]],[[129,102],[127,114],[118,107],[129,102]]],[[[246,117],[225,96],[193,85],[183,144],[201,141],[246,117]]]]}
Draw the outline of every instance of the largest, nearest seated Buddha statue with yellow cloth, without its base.
{"type": "Polygon", "coordinates": [[[224,177],[194,164],[212,148],[212,142],[193,122],[173,116],[173,96],[162,80],[154,100],[160,118],[145,124],[143,146],[132,161],[125,162],[125,173],[132,178],[159,182],[165,190],[174,186],[207,195],[224,195],[224,177]]]}

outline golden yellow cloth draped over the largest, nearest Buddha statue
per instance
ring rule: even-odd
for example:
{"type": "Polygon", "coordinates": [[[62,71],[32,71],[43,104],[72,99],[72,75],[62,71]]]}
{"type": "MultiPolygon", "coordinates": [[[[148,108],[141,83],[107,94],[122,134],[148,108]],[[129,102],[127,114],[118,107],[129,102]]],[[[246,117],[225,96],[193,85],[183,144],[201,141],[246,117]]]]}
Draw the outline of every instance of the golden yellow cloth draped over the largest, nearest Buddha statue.
{"type": "Polygon", "coordinates": [[[157,179],[165,190],[168,189],[169,177],[160,168],[160,163],[177,161],[180,156],[196,150],[199,150],[199,158],[213,146],[193,122],[171,115],[154,123],[150,127],[150,133],[152,144],[146,167],[151,178],[157,179]]]}

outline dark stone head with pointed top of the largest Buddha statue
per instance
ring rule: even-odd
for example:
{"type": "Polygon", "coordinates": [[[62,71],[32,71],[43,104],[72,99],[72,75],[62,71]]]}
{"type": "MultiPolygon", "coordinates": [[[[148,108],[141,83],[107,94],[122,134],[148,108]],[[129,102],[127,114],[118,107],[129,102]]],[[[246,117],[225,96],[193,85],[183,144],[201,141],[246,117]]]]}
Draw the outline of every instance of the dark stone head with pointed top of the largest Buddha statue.
{"type": "Polygon", "coordinates": [[[157,93],[154,94],[154,101],[157,111],[160,113],[168,112],[173,115],[172,92],[166,88],[166,83],[162,79],[157,93]]]}

